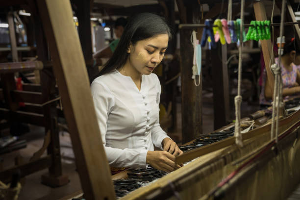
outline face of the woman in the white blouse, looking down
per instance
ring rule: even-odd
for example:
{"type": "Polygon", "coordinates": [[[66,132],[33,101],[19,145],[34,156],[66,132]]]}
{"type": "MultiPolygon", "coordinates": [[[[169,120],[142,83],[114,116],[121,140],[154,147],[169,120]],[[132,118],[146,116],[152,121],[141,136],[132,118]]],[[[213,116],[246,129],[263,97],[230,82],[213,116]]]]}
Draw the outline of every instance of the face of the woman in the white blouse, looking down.
{"type": "Polygon", "coordinates": [[[142,75],[150,75],[161,62],[168,47],[168,34],[159,34],[146,40],[138,41],[128,49],[129,63],[142,75]]]}

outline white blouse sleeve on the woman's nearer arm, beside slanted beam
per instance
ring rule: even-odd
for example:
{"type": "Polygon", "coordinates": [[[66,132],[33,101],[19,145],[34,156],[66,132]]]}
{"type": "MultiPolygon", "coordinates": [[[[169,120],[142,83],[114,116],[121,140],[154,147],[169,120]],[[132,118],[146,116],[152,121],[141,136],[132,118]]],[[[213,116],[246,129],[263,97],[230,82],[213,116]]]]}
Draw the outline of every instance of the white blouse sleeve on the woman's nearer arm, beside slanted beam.
{"type": "Polygon", "coordinates": [[[99,123],[103,147],[111,167],[146,167],[147,150],[117,149],[106,147],[105,135],[109,113],[115,104],[114,97],[105,84],[93,82],[92,97],[99,123]]]}

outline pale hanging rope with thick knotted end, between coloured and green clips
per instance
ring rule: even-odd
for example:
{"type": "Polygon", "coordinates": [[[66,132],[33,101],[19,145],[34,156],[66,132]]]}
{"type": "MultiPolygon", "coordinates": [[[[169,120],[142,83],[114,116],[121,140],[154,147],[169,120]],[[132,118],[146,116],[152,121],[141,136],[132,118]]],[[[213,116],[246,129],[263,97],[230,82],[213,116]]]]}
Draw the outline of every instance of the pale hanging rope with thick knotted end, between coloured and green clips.
{"type": "Polygon", "coordinates": [[[242,83],[242,48],[243,48],[244,4],[245,4],[245,0],[241,0],[238,94],[234,98],[234,104],[235,104],[234,136],[235,136],[235,143],[239,147],[243,147],[242,134],[241,134],[241,122],[240,121],[241,121],[241,102],[242,102],[241,83],[242,83]]]}

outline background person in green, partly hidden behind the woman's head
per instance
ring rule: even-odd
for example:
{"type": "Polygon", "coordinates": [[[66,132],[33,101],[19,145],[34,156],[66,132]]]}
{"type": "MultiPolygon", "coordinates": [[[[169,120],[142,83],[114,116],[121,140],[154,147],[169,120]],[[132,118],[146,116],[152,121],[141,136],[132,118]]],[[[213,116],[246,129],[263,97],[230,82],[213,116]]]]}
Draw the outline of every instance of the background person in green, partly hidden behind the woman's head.
{"type": "Polygon", "coordinates": [[[120,38],[123,34],[124,28],[127,24],[127,20],[124,17],[120,17],[115,22],[114,32],[117,37],[116,40],[112,41],[108,47],[97,51],[93,54],[93,58],[97,60],[97,64],[100,63],[100,58],[110,58],[113,54],[113,52],[116,50],[118,43],[120,41],[120,38]]]}

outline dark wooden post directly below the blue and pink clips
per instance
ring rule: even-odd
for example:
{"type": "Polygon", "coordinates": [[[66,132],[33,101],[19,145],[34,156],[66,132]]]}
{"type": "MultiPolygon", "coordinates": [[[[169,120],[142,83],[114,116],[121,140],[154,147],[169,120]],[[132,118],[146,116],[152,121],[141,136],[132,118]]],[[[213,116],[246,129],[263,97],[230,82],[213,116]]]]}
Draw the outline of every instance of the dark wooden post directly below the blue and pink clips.
{"type": "Polygon", "coordinates": [[[213,79],[214,129],[227,125],[229,120],[229,83],[227,72],[227,47],[217,43],[210,50],[213,79]]]}

